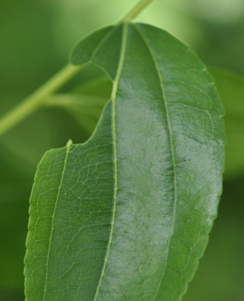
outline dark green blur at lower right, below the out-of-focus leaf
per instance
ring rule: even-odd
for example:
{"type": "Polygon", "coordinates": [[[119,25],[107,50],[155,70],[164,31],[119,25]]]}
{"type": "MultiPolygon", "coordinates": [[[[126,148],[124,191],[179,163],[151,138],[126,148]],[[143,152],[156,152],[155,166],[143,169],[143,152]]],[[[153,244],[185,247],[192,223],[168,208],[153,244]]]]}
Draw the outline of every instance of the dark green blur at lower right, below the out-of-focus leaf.
{"type": "Polygon", "coordinates": [[[209,243],[183,301],[244,300],[244,177],[224,182],[209,243]]]}

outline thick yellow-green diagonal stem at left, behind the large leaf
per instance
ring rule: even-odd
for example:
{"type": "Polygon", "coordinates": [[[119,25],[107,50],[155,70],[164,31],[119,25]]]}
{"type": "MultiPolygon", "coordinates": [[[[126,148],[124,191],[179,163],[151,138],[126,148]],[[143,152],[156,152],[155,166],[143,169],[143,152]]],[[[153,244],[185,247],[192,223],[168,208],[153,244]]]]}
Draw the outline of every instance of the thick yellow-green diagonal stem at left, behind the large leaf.
{"type": "Polygon", "coordinates": [[[81,66],[66,65],[44,85],[22,101],[17,107],[10,110],[0,119],[0,135],[11,129],[26,116],[41,107],[44,99],[58,90],[63,84],[72,78],[81,66]]]}

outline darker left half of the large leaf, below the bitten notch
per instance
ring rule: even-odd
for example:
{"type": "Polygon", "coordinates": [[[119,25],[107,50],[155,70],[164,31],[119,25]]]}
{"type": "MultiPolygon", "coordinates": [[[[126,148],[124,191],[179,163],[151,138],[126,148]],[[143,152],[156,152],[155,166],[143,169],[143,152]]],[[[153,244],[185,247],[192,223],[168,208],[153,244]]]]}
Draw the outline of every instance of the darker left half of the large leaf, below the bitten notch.
{"type": "MultiPolygon", "coordinates": [[[[65,292],[65,298],[67,297],[70,300],[73,298],[73,300],[75,300],[74,298],[76,298],[76,293],[78,293],[80,289],[80,286],[77,287],[76,284],[78,281],[76,279],[80,278],[80,274],[77,271],[79,268],[77,268],[77,266],[80,266],[80,268],[83,269],[81,277],[82,281],[84,283],[91,282],[92,284],[89,273],[93,273],[95,275],[97,269],[99,269],[102,264],[100,257],[102,258],[101,253],[103,253],[103,250],[106,248],[104,233],[109,230],[108,225],[110,222],[109,210],[106,209],[106,206],[108,205],[106,205],[105,201],[109,202],[111,188],[108,182],[110,182],[110,179],[113,179],[110,175],[111,170],[104,168],[104,165],[107,167],[109,164],[109,153],[111,151],[110,123],[107,122],[107,116],[110,115],[110,108],[111,106],[108,104],[104,110],[105,113],[102,118],[102,129],[99,126],[97,128],[97,135],[99,135],[98,139],[96,138],[96,135],[94,135],[83,145],[70,145],[63,149],[49,151],[41,160],[33,187],[34,194],[32,194],[30,201],[31,217],[27,239],[27,253],[25,257],[26,300],[62,300],[62,292],[65,292]],[[104,131],[105,134],[100,135],[101,131],[104,131]],[[98,141],[101,142],[101,144],[97,146],[96,143],[98,141]],[[63,161],[68,148],[70,149],[68,157],[69,165],[66,168],[63,180],[61,181],[63,161]],[[96,158],[93,158],[95,150],[96,154],[100,157],[98,164],[96,162],[96,158]],[[103,152],[105,152],[103,159],[105,163],[101,160],[103,152]],[[79,162],[82,155],[85,159],[83,158],[81,167],[77,164],[77,162],[79,162]],[[50,160],[53,160],[54,162],[50,164],[50,160]],[[54,168],[56,165],[55,160],[59,163],[59,169],[54,168]],[[42,174],[47,173],[46,170],[50,169],[50,166],[52,166],[53,174],[57,174],[59,178],[54,178],[52,172],[50,172],[49,177],[42,176],[42,174]],[[93,180],[96,180],[98,184],[103,182],[102,197],[99,189],[93,190],[92,198],[89,197],[94,185],[92,180],[86,179],[89,172],[91,174],[90,176],[93,180]],[[50,208],[55,208],[53,199],[50,195],[50,192],[53,191],[54,182],[57,185],[59,184],[59,186],[62,183],[62,186],[59,198],[57,198],[57,193],[54,195],[55,200],[58,199],[58,206],[56,206],[56,215],[52,215],[52,221],[50,221],[48,225],[47,222],[43,224],[43,222],[41,222],[35,214],[38,212],[39,215],[41,215],[42,212],[42,215],[47,218],[47,216],[50,215],[48,214],[50,208]],[[68,194],[69,204],[66,205],[65,199],[67,199],[67,191],[69,190],[70,184],[73,186],[73,194],[68,194]],[[81,192],[82,188],[83,193],[81,192]],[[35,194],[40,196],[36,197],[35,194]],[[73,202],[74,198],[80,197],[79,194],[82,197],[82,206],[78,202],[73,202]],[[86,194],[86,197],[84,194],[86,194]],[[96,202],[96,200],[100,201],[100,205],[96,202]],[[93,206],[90,202],[94,202],[93,206]],[[39,208],[37,209],[37,207],[39,208]],[[94,220],[93,225],[88,224],[87,216],[85,216],[89,208],[91,220],[94,220]],[[101,216],[99,216],[100,211],[104,213],[101,216]],[[36,228],[39,229],[39,233],[36,231],[36,228]],[[85,229],[88,232],[86,235],[91,238],[93,235],[92,229],[94,229],[94,232],[97,232],[98,234],[100,234],[102,230],[103,232],[102,235],[100,235],[100,238],[94,240],[91,239],[90,242],[86,241],[86,245],[83,248],[80,248],[79,244],[77,244],[77,239],[84,240],[83,235],[85,229]],[[47,233],[45,233],[45,230],[47,233]],[[50,233],[53,231],[55,234],[53,235],[53,242],[51,243],[51,238],[49,237],[51,237],[50,233]],[[44,237],[44,235],[46,235],[46,237],[44,237]],[[38,244],[37,242],[41,236],[42,241],[38,244]],[[67,256],[65,252],[65,245],[70,247],[72,255],[68,254],[67,256]],[[41,246],[43,246],[42,249],[41,246]],[[43,252],[47,253],[47,250],[50,250],[50,248],[52,250],[52,258],[46,263],[45,258],[47,257],[47,254],[45,256],[43,255],[43,252]],[[91,248],[97,252],[94,251],[94,254],[90,254],[89,250],[91,248]],[[38,257],[35,256],[36,252],[39,254],[38,257]],[[86,267],[85,258],[88,258],[87,260],[90,261],[92,266],[86,267]],[[70,266],[72,259],[76,263],[70,266]],[[59,263],[58,265],[57,262],[59,263]],[[30,265],[31,268],[29,267],[30,265]],[[49,271],[47,269],[48,266],[49,271]],[[41,270],[40,267],[42,268],[41,270]],[[67,288],[68,282],[65,277],[67,271],[69,278],[74,282],[70,290],[67,288]],[[59,280],[60,273],[63,275],[61,280],[59,280]],[[42,283],[40,283],[40,279],[42,280],[42,283]],[[47,281],[47,287],[45,289],[43,280],[46,281],[48,279],[51,280],[47,281]],[[31,281],[33,282],[30,283],[31,281]],[[75,287],[77,287],[77,292],[73,295],[75,287]]],[[[111,198],[112,195],[113,194],[111,193],[111,198]]],[[[97,272],[97,274],[99,275],[99,272],[97,272]]],[[[95,276],[94,279],[96,280],[95,276]]],[[[93,291],[93,288],[89,288],[88,286],[82,292],[82,297],[86,300],[91,300],[91,291],[93,291]]]]}

